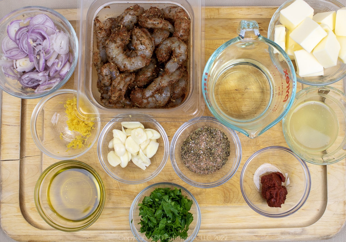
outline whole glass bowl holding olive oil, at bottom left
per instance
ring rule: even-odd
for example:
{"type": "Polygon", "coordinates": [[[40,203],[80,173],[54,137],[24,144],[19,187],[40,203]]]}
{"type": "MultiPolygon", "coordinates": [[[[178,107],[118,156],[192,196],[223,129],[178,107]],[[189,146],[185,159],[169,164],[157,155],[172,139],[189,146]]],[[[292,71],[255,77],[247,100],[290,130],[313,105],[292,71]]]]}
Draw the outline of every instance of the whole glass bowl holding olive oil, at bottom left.
{"type": "Polygon", "coordinates": [[[105,201],[103,182],[89,165],[59,161],[45,169],[34,192],[38,213],[53,228],[84,230],[100,216],[105,201]]]}

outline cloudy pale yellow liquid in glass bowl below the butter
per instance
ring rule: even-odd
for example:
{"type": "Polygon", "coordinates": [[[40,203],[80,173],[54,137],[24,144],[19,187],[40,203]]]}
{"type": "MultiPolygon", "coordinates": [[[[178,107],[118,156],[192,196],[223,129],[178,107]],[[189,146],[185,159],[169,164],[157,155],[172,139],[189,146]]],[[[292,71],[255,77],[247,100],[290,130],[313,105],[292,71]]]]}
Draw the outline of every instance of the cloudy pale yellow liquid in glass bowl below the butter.
{"type": "Polygon", "coordinates": [[[324,102],[303,102],[293,111],[289,123],[290,134],[301,149],[320,152],[328,149],[338,135],[338,119],[324,102]]]}

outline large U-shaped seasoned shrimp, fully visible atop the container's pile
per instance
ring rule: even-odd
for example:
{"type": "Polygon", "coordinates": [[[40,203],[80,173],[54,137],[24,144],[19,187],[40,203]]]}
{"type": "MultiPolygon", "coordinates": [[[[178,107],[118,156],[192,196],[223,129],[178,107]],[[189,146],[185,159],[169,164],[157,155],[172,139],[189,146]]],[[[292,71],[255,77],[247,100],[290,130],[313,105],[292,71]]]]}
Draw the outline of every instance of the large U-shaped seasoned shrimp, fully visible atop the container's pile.
{"type": "Polygon", "coordinates": [[[134,71],[143,68],[150,63],[153,54],[153,40],[150,35],[143,34],[143,39],[140,39],[142,44],[138,45],[138,53],[140,54],[134,57],[127,56],[124,50],[130,41],[130,37],[130,33],[125,28],[121,28],[114,31],[106,43],[108,61],[117,65],[120,71],[134,71]]]}

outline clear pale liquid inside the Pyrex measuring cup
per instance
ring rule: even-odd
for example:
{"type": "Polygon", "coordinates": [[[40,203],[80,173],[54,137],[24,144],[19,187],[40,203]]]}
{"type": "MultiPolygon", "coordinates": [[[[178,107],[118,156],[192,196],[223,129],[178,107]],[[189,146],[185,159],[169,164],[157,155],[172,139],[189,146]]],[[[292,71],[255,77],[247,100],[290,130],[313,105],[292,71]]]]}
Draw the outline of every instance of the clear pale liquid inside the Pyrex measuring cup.
{"type": "Polygon", "coordinates": [[[273,81],[267,68],[251,59],[237,59],[223,66],[213,95],[219,110],[239,121],[261,116],[272,99],[273,81]]]}

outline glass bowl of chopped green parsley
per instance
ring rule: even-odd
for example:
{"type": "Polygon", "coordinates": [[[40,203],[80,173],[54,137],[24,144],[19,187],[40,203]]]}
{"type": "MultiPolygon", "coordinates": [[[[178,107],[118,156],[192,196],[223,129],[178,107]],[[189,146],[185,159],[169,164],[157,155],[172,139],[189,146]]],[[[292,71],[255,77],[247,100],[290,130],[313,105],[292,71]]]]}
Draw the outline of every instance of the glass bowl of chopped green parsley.
{"type": "Polygon", "coordinates": [[[139,192],[131,205],[129,222],[139,242],[187,242],[197,236],[201,211],[186,188],[159,182],[139,192]]]}

